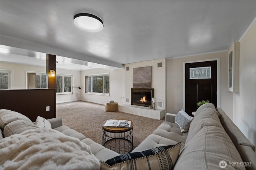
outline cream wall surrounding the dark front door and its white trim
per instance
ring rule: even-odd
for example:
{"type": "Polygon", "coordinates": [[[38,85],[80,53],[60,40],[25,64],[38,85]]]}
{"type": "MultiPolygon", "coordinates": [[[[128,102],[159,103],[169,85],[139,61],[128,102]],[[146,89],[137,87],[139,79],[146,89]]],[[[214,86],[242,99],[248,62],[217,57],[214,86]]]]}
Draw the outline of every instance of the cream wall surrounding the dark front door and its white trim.
{"type": "MultiPolygon", "coordinates": [[[[231,44],[230,44],[231,45],[231,44]]],[[[168,59],[167,62],[167,112],[177,113],[183,108],[183,62],[220,59],[220,107],[233,118],[233,93],[228,91],[228,49],[224,52],[168,59]],[[175,88],[178,86],[178,88],[175,88]]]]}

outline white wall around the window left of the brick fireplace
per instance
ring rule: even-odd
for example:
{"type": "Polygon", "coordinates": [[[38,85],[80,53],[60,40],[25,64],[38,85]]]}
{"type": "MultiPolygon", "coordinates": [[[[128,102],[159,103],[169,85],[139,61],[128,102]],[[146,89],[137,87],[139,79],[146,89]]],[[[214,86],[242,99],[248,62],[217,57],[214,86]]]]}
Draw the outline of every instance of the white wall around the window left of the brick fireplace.
{"type": "Polygon", "coordinates": [[[82,95],[80,100],[86,102],[93,102],[98,104],[106,104],[109,100],[114,100],[118,104],[124,104],[124,69],[108,70],[103,68],[85,70],[81,72],[81,87],[82,95]],[[109,96],[98,95],[98,94],[88,94],[85,93],[85,76],[92,74],[102,74],[109,72],[109,96]]]}

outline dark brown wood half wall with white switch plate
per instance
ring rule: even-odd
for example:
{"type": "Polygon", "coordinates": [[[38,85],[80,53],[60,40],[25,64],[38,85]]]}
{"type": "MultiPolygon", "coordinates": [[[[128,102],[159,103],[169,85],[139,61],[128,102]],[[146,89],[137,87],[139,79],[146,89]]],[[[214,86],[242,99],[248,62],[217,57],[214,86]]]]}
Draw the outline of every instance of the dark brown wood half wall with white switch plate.
{"type": "Polygon", "coordinates": [[[31,121],[56,117],[56,89],[0,90],[0,108],[17,111],[31,121]],[[50,111],[46,111],[50,106],[50,111]]]}

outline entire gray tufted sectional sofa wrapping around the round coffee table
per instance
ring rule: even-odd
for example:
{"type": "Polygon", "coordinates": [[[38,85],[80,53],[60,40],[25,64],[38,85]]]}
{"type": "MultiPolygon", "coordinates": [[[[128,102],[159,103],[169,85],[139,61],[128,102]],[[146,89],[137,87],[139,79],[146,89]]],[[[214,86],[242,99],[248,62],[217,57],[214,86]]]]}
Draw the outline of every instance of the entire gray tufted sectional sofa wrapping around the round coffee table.
{"type": "MultiPolygon", "coordinates": [[[[164,145],[181,143],[174,170],[256,169],[255,146],[242,134],[221,108],[204,104],[198,108],[188,132],[182,133],[175,123],[175,114],[166,113],[165,121],[132,152],[164,145]]],[[[26,124],[26,117],[17,112],[1,109],[1,137],[37,128],[28,123],[17,128],[13,121],[26,124]],[[7,128],[8,127],[8,128],[7,128]]],[[[81,133],[62,125],[61,118],[48,119],[52,129],[76,137],[86,143],[98,160],[106,161],[120,154],[86,138],[81,133]]]]}

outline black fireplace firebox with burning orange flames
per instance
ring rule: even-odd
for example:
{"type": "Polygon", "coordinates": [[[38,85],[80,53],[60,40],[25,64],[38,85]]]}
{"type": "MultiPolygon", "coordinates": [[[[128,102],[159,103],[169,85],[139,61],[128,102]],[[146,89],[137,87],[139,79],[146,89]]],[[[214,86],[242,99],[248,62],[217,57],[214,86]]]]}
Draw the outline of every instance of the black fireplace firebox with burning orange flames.
{"type": "Polygon", "coordinates": [[[148,107],[154,98],[154,88],[131,88],[131,104],[148,107]]]}

